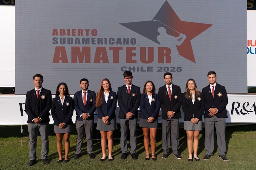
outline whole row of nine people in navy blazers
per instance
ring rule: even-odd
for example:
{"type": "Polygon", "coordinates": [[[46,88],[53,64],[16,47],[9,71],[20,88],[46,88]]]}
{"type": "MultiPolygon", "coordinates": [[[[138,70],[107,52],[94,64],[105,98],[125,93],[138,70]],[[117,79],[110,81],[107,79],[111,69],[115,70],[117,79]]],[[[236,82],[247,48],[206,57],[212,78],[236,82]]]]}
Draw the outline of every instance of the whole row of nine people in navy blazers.
{"type": "Polygon", "coordinates": [[[181,118],[180,108],[182,106],[185,114],[184,129],[187,132],[187,144],[189,156],[199,161],[197,156],[198,136],[202,130],[202,115],[204,113],[205,126],[205,150],[204,160],[213,155],[214,125],[217,132],[218,156],[228,161],[225,157],[225,118],[227,117],[227,93],[224,86],[216,83],[216,73],[208,72],[209,85],[200,92],[195,81],[189,79],[186,84],[186,92],[181,93],[180,86],[172,83],[172,74],[164,74],[165,85],[160,87],[156,94],[155,85],[152,81],[147,81],[141,94],[140,87],[132,84],[132,73],[123,73],[125,85],[118,87],[117,93],[112,91],[111,83],[108,79],[101,81],[99,91],[96,95],[94,91],[88,89],[89,81],[80,80],[81,90],[69,96],[68,87],[65,83],[60,83],[56,89],[56,97],[51,96],[51,91],[42,87],[43,76],[36,74],[33,77],[35,88],[26,94],[26,113],[28,114],[28,130],[30,139],[30,162],[28,166],[36,163],[37,132],[39,130],[42,140],[41,159],[44,164],[49,164],[49,111],[52,109],[54,119],[54,131],[57,137],[57,150],[59,153],[58,163],[69,162],[68,153],[70,148],[69,136],[72,129],[73,109],[76,111],[75,128],[77,131],[76,149],[74,159],[79,159],[82,151],[82,141],[84,134],[87,142],[87,153],[91,159],[95,158],[93,153],[93,126],[94,112],[97,110],[98,123],[96,129],[101,134],[102,157],[100,161],[113,161],[113,132],[117,129],[115,109],[118,102],[120,119],[120,147],[121,159],[128,156],[127,135],[130,132],[130,153],[132,159],[138,159],[137,151],[137,120],[140,117],[139,126],[143,131],[143,142],[145,146],[145,159],[157,160],[156,157],[156,135],[158,128],[159,110],[162,110],[162,147],[163,156],[166,159],[172,146],[173,155],[177,159],[182,159],[178,152],[179,148],[179,118],[181,118]],[[138,108],[141,113],[138,115],[138,108]],[[65,156],[63,159],[63,138],[65,156]],[[151,146],[151,154],[149,151],[151,146]],[[108,146],[108,157],[106,156],[106,146],[108,146]],[[193,150],[193,154],[192,154],[193,150]]]}

